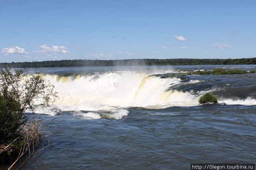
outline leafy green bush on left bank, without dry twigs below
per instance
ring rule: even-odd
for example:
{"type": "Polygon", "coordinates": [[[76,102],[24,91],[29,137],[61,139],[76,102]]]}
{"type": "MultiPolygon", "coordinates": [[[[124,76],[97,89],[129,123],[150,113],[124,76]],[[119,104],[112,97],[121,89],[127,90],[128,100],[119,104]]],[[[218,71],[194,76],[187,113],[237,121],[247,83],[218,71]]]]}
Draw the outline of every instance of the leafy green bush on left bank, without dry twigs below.
{"type": "Polygon", "coordinates": [[[57,97],[54,86],[41,75],[23,76],[23,71],[0,69],[0,145],[20,137],[27,123],[24,112],[35,104],[49,104],[57,97]],[[39,102],[39,103],[35,103],[39,102]]]}

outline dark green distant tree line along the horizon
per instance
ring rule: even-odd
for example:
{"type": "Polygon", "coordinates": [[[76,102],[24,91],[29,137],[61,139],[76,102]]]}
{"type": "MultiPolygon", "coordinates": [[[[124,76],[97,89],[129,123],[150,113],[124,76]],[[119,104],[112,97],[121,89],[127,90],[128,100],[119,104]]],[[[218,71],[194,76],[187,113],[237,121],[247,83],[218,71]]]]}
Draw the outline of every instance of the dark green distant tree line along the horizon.
{"type": "Polygon", "coordinates": [[[14,68],[88,67],[88,66],[166,66],[166,65],[235,65],[256,64],[256,58],[242,59],[124,59],[124,60],[56,60],[43,62],[12,62],[14,68]]]}

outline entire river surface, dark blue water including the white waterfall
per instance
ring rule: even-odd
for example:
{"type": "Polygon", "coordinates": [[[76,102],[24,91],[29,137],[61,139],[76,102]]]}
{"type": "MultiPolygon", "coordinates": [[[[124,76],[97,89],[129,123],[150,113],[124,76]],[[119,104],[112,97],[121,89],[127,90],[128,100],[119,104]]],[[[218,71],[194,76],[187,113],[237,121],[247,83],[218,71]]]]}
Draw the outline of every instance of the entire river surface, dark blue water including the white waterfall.
{"type": "Polygon", "coordinates": [[[22,169],[255,163],[256,74],[172,76],[215,68],[250,71],[256,65],[26,69],[54,84],[59,99],[36,110],[48,118],[53,145],[22,169]],[[206,92],[218,104],[199,104],[206,92]]]}

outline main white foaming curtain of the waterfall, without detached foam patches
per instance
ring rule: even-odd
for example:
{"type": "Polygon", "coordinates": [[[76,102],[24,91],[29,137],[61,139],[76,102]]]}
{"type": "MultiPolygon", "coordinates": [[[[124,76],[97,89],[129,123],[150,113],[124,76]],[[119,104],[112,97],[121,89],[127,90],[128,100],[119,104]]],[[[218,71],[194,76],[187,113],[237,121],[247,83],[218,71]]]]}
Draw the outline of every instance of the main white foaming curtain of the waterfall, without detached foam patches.
{"type": "Polygon", "coordinates": [[[50,80],[59,92],[59,99],[54,104],[63,111],[195,104],[184,102],[192,97],[188,93],[167,91],[181,82],[177,78],[161,79],[130,71],[78,75],[76,78],[45,75],[44,78],[50,80]]]}

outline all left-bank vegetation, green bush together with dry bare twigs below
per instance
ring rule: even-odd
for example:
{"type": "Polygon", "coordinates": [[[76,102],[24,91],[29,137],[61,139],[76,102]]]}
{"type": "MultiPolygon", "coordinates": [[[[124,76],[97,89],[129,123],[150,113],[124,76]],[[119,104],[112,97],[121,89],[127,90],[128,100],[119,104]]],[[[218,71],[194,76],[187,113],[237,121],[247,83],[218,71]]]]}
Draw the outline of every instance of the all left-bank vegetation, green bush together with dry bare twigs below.
{"type": "Polygon", "coordinates": [[[8,170],[25,157],[19,169],[32,155],[52,145],[44,145],[46,119],[35,115],[34,109],[54,102],[57,93],[41,75],[23,73],[11,71],[10,66],[0,69],[0,165],[10,165],[8,170]],[[26,110],[32,114],[26,115],[26,110]]]}

